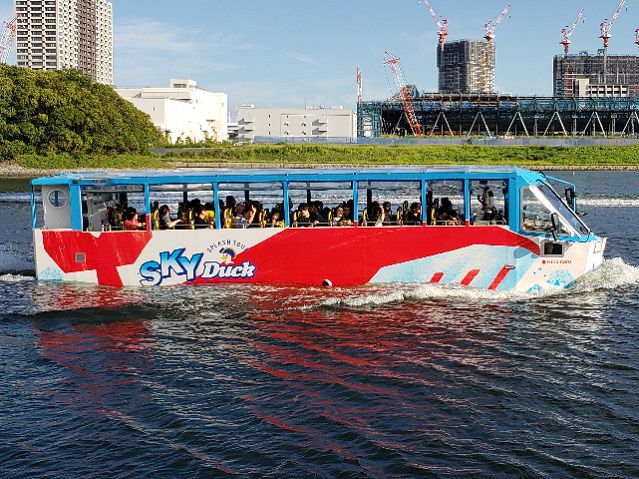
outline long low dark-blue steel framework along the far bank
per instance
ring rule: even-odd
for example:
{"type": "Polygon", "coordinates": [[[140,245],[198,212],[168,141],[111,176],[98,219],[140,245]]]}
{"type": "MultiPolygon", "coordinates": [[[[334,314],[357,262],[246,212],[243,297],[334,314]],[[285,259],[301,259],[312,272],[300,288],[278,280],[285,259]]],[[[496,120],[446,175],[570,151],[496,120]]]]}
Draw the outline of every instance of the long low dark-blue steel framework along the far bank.
{"type": "MultiPolygon", "coordinates": [[[[634,137],[639,98],[554,98],[432,94],[413,100],[426,136],[634,137]]],[[[409,136],[401,101],[358,106],[358,136],[409,136]]]]}

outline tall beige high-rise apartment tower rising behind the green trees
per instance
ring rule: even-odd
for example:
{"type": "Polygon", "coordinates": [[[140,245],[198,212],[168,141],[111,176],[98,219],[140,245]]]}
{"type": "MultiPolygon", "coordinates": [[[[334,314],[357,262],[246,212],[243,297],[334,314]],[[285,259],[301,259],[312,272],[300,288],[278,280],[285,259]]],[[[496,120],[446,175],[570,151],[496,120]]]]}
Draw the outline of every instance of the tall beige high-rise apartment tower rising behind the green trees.
{"type": "Polygon", "coordinates": [[[106,0],[14,0],[16,60],[35,70],[74,68],[113,83],[113,6],[106,0]]]}

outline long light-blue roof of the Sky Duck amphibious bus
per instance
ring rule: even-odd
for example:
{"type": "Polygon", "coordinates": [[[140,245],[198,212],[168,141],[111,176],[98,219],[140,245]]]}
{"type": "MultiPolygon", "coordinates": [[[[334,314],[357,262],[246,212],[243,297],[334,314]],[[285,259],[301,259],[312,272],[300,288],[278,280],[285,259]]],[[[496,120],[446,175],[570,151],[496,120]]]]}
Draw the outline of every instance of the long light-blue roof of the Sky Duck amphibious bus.
{"type": "Polygon", "coordinates": [[[384,168],[308,168],[308,169],[179,169],[179,170],[101,170],[69,172],[38,178],[34,186],[91,184],[173,184],[198,182],[275,182],[288,181],[351,181],[407,180],[429,178],[500,178],[519,176],[535,183],[541,173],[514,166],[444,166],[444,167],[384,167],[384,168]]]}

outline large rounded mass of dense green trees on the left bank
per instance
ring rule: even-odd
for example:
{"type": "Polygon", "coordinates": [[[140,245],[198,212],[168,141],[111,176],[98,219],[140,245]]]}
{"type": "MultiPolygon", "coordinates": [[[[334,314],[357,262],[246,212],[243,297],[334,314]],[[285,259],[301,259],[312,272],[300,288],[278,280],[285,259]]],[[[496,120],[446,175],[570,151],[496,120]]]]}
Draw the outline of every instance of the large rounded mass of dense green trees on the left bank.
{"type": "Polygon", "coordinates": [[[148,154],[162,134],[111,87],[75,70],[0,65],[0,159],[148,154]]]}

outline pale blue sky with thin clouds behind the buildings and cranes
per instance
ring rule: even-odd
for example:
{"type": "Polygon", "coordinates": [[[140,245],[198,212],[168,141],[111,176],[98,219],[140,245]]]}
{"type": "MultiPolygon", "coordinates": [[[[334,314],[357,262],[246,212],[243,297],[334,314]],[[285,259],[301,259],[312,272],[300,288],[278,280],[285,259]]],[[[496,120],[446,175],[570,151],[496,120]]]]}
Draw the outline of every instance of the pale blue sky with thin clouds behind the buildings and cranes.
{"type": "MultiPolygon", "coordinates": [[[[448,41],[481,39],[483,24],[507,0],[431,0],[450,22],[448,41]]],[[[364,99],[391,95],[385,51],[401,58],[406,81],[437,90],[436,26],[417,0],[112,0],[115,83],[163,86],[192,78],[241,104],[354,108],[355,69],[364,99]]],[[[552,94],[552,57],[561,29],[581,7],[572,52],[601,48],[599,24],[619,0],[511,0],[496,33],[497,90],[552,94]]],[[[613,29],[610,53],[637,53],[639,2],[628,0],[613,29]]],[[[0,0],[0,18],[12,1],[0,0]]]]}

